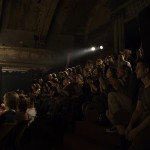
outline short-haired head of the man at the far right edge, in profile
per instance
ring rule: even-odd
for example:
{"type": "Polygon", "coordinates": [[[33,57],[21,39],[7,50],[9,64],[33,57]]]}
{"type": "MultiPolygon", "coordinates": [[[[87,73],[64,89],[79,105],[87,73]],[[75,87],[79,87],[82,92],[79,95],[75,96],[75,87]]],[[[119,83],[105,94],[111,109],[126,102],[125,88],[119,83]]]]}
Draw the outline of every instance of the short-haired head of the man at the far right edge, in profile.
{"type": "Polygon", "coordinates": [[[137,62],[135,73],[137,79],[150,78],[150,59],[141,59],[137,62]]]}

